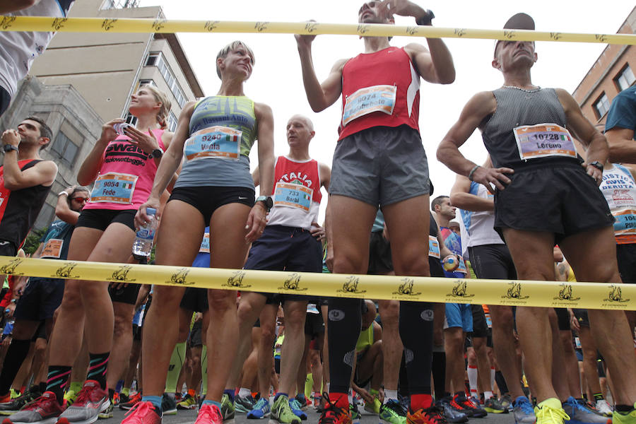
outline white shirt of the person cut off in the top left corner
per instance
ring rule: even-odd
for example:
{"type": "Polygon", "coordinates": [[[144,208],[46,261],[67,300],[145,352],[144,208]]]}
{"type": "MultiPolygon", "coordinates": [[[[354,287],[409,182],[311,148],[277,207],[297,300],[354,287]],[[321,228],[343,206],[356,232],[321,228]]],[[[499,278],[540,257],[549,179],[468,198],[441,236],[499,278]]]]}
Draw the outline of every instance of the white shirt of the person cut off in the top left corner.
{"type": "MultiPolygon", "coordinates": [[[[51,16],[65,18],[74,0],[40,0],[38,4],[13,16],[51,16]]],[[[0,32],[0,86],[13,97],[18,81],[26,76],[33,59],[45,51],[55,33],[33,31],[0,32]]]]}

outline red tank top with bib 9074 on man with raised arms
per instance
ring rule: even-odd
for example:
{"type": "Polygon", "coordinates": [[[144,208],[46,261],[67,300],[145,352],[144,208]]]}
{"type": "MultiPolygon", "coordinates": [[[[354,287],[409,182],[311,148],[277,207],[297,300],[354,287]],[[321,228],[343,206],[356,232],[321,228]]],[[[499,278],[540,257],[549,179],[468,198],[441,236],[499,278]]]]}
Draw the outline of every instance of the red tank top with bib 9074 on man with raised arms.
{"type": "Polygon", "coordinates": [[[404,49],[358,54],[344,65],[338,141],[373,126],[419,130],[419,115],[420,75],[404,49]]]}

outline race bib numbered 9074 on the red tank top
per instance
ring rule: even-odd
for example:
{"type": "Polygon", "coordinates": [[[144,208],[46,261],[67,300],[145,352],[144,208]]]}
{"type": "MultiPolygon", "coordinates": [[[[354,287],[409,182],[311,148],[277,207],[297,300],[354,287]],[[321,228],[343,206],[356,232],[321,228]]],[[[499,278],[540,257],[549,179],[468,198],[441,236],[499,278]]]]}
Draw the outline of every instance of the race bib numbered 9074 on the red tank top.
{"type": "Polygon", "coordinates": [[[342,126],[373,112],[393,114],[396,93],[396,86],[372,86],[348,95],[342,111],[342,126]]]}

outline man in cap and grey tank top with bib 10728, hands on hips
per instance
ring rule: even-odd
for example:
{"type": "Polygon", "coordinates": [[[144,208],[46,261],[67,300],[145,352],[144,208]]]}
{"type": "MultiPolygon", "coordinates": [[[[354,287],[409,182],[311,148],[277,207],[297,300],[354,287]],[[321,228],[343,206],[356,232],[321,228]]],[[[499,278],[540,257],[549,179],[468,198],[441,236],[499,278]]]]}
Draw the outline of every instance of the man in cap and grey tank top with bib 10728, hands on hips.
{"type": "MultiPolygon", "coordinates": [[[[518,13],[505,28],[534,30],[534,20],[518,13]]],[[[552,249],[558,243],[577,280],[620,283],[613,218],[598,189],[607,141],[569,93],[533,85],[530,71],[536,61],[534,42],[498,41],[493,67],[502,72],[504,85],[469,100],[440,143],[437,158],[495,194],[495,230],[510,249],[519,279],[555,280],[552,249]],[[476,165],[459,152],[476,128],[482,131],[493,167],[476,165]],[[587,147],[587,162],[577,154],[572,135],[587,147]]],[[[507,287],[502,284],[502,295],[507,287]]],[[[636,358],[625,314],[589,314],[597,346],[616,384],[613,423],[634,423],[636,358]]],[[[526,376],[538,401],[536,423],[573,422],[577,402],[565,401],[551,379],[548,310],[517,308],[517,329],[526,376]]],[[[522,396],[519,401],[525,403],[522,396]]]]}

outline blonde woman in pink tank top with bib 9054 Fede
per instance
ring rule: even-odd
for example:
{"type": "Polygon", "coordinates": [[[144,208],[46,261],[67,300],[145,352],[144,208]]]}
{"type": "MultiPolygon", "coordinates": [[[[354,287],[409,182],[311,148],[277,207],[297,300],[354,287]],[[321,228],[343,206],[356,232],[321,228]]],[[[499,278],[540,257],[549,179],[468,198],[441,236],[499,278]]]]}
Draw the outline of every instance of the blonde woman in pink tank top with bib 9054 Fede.
{"type": "MultiPolygon", "coordinates": [[[[73,232],[69,261],[126,263],[132,260],[134,216],[151,192],[172,133],[165,131],[170,101],[152,86],[142,86],[131,96],[129,112],[137,118],[136,127],[127,126],[121,135],[115,126],[124,123],[124,119],[104,124],[100,139],[80,167],[78,183],[93,184],[93,190],[73,232]]],[[[107,401],[107,387],[114,389],[128,360],[132,344],[130,323],[138,291],[139,285],[128,285],[125,281],[66,281],[52,338],[49,372],[53,372],[53,377],[57,376],[59,381],[68,379],[65,370],[73,365],[81,348],[82,334],[86,334],[90,365],[82,391],[91,392],[87,393],[88,399],[107,401]],[[122,323],[115,331],[115,340],[114,317],[122,323]],[[111,349],[109,381],[106,382],[111,349]]],[[[57,387],[53,385],[47,390],[56,392],[57,387]]]]}

